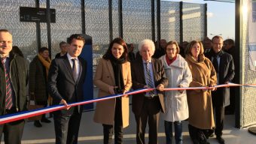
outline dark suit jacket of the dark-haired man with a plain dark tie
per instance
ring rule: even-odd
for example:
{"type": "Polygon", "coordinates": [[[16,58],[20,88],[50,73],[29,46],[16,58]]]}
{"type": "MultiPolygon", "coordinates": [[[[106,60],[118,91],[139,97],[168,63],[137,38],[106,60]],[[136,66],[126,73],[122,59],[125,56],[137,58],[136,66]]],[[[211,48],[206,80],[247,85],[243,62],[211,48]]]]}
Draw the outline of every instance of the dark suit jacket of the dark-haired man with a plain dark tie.
{"type": "MultiPolygon", "coordinates": [[[[84,100],[83,84],[87,71],[87,62],[83,58],[78,57],[78,59],[80,62],[80,74],[77,82],[73,78],[72,67],[67,55],[55,58],[51,62],[48,74],[48,92],[53,98],[53,104],[59,104],[62,99],[67,103],[84,100]]],[[[74,107],[69,110],[61,110],[61,113],[72,114],[73,110],[74,107]]]]}

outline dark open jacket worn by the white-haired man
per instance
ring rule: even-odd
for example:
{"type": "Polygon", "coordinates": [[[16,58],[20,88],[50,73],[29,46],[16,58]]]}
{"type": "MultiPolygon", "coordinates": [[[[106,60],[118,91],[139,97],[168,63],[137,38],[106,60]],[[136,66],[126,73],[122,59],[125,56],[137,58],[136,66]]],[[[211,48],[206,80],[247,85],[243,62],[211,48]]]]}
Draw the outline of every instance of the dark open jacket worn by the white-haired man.
{"type": "MultiPolygon", "coordinates": [[[[152,58],[153,72],[154,72],[154,85],[157,87],[159,84],[163,84],[163,86],[167,86],[168,80],[164,73],[164,68],[162,62],[158,59],[152,58]]],[[[145,74],[143,68],[142,58],[136,58],[136,61],[132,63],[132,82],[133,89],[143,89],[146,86],[145,82],[145,74]]],[[[164,102],[163,102],[163,92],[157,91],[161,110],[165,111],[164,102]]],[[[145,93],[139,93],[137,95],[133,95],[132,98],[132,109],[135,115],[139,115],[142,111],[142,106],[144,103],[145,93]]]]}

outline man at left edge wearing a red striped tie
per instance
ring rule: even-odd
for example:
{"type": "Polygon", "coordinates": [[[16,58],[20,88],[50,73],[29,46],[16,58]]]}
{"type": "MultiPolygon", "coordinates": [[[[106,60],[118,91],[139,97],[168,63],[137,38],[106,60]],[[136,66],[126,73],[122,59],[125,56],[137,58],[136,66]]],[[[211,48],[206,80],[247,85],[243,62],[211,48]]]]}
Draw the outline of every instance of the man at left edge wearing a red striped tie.
{"type": "MultiPolygon", "coordinates": [[[[11,52],[12,35],[7,29],[0,29],[0,115],[27,110],[26,83],[28,82],[26,60],[11,52]]],[[[21,143],[24,119],[0,125],[5,143],[21,143]]]]}

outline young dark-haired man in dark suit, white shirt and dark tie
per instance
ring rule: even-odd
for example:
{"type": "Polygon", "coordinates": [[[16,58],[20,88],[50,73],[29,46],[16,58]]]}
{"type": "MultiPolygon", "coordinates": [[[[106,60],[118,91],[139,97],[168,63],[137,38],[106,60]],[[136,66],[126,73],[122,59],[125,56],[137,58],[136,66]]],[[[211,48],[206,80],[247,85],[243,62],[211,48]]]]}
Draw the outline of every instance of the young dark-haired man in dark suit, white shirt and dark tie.
{"type": "Polygon", "coordinates": [[[86,61],[79,57],[84,37],[72,34],[68,38],[66,55],[51,62],[48,75],[48,91],[53,104],[64,104],[65,110],[53,113],[56,143],[78,143],[78,130],[82,107],[69,107],[69,103],[83,101],[83,83],[87,71],[86,61]]]}

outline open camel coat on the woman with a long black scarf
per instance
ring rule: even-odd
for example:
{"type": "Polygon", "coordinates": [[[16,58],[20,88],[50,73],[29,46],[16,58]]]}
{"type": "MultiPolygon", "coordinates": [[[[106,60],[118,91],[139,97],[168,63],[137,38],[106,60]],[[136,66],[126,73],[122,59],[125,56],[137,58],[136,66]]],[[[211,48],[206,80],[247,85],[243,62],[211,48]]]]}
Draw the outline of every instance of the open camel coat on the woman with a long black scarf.
{"type": "MultiPolygon", "coordinates": [[[[122,65],[124,89],[129,91],[132,86],[130,62],[122,65]]],[[[95,86],[99,88],[99,98],[111,95],[108,92],[109,86],[115,86],[114,71],[110,60],[100,59],[96,68],[96,74],[93,80],[95,86]]],[[[107,101],[99,101],[96,104],[94,121],[100,124],[114,124],[115,98],[107,101]]],[[[129,98],[122,97],[122,119],[123,127],[129,125],[129,98]]]]}

